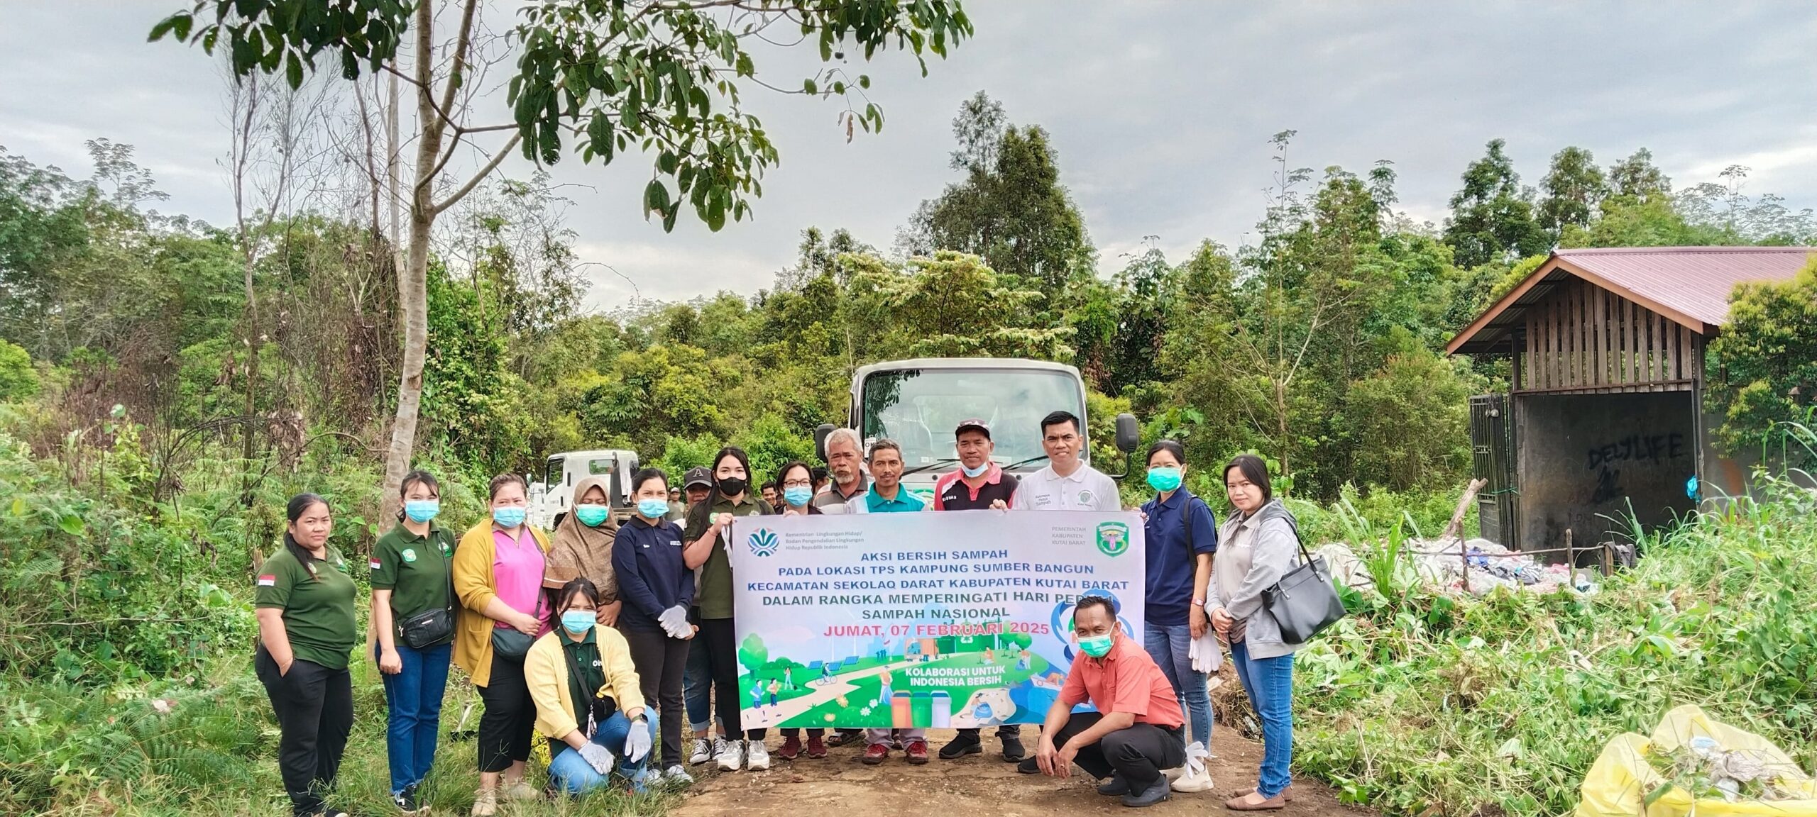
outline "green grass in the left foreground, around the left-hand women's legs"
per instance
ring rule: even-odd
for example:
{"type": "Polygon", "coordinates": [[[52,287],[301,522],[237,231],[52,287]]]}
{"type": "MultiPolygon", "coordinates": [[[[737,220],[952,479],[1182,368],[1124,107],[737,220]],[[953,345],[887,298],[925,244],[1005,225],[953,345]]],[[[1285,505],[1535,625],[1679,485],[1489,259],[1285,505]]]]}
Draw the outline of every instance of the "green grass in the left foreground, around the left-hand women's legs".
{"type": "MultiPolygon", "coordinates": [[[[251,661],[222,657],[204,688],[136,694],[53,683],[0,681],[0,813],[78,815],[289,815],[278,779],[278,728],[251,661]],[[167,701],[160,714],[154,701],[167,701]]],[[[480,786],[472,741],[447,739],[478,695],[451,679],[442,746],[423,784],[436,813],[465,813],[480,786]]],[[[531,781],[541,783],[532,761],[531,781]]],[[[518,804],[518,817],[663,815],[681,795],[596,792],[581,799],[518,804]]],[[[369,664],[354,668],[354,728],[331,804],[382,815],[391,804],[383,690],[369,664]]]]}

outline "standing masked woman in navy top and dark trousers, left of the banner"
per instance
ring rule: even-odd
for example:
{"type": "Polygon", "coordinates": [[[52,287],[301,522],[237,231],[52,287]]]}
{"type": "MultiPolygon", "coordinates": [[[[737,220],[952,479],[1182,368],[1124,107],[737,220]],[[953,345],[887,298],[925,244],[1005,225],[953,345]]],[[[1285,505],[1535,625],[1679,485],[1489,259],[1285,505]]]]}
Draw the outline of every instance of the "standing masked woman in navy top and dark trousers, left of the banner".
{"type": "Polygon", "coordinates": [[[681,527],[669,521],[669,476],[643,468],[630,477],[638,514],[612,537],[618,574],[618,632],[630,645],[630,663],[645,701],[656,701],[661,721],[661,779],[694,783],[681,768],[681,675],[694,625],[694,572],[681,563],[681,527]]]}

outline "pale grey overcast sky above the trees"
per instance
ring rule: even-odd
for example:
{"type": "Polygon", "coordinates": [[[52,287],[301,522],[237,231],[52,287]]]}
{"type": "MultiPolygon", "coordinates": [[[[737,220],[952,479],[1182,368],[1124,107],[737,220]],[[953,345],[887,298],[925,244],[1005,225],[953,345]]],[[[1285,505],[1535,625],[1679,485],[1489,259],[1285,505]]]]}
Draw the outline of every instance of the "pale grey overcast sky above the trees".
{"type": "MultiPolygon", "coordinates": [[[[231,221],[216,160],[227,129],[214,64],[147,44],[187,0],[18,2],[0,25],[0,145],[87,176],[85,138],[138,147],[165,212],[231,221]]],[[[1085,212],[1099,269],[1143,236],[1176,261],[1201,238],[1245,243],[1270,178],[1268,136],[1296,129],[1292,163],[1366,171],[1394,160],[1401,207],[1441,220],[1465,165],[1508,140],[1524,183],[1564,145],[1597,162],[1650,147],[1677,187],[1741,163],[1748,192],[1817,207],[1817,5],[1810,2],[1292,4],[970,0],[978,34],[948,60],[879,54],[881,134],[845,142],[838,105],[750,89],[781,151],[756,221],[712,234],[689,214],[645,223],[649,163],[567,158],[571,227],[583,260],[609,263],[643,298],[769,287],[809,225],[847,227],[889,249],[923,198],[956,178],[950,122],[985,89],[1010,122],[1039,123],[1085,212]],[[585,187],[581,187],[585,185],[585,187]]],[[[496,25],[505,25],[501,18],[496,25]]],[[[798,87],[812,49],[760,54],[760,76],[798,87]]],[[[503,118],[501,94],[494,100],[503,118]]],[[[521,160],[509,172],[527,176],[521,160]]],[[[600,271],[600,267],[589,267],[600,271]]],[[[630,285],[600,271],[589,303],[630,285]]]]}

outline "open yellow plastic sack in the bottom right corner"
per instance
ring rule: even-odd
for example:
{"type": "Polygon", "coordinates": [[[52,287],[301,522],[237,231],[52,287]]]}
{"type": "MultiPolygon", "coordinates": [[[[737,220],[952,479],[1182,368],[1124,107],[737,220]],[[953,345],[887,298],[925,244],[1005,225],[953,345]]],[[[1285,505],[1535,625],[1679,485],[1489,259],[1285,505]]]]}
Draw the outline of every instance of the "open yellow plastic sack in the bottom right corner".
{"type": "Polygon", "coordinates": [[[1812,781],[1797,763],[1786,757],[1761,735],[1737,730],[1730,724],[1712,721],[1697,706],[1679,706],[1666,714],[1652,737],[1632,732],[1615,735],[1603,753],[1590,766],[1581,788],[1583,799],[1577,802],[1577,817],[1817,817],[1817,781],[1812,781]],[[1652,804],[1646,795],[1655,792],[1664,777],[1646,761],[1646,752],[1670,753],[1679,746],[1688,746],[1693,737],[1710,737],[1724,752],[1748,752],[1770,770],[1781,772],[1782,788],[1790,788],[1802,799],[1792,801],[1737,801],[1692,799],[1690,792],[1673,786],[1661,793],[1652,804]]]}

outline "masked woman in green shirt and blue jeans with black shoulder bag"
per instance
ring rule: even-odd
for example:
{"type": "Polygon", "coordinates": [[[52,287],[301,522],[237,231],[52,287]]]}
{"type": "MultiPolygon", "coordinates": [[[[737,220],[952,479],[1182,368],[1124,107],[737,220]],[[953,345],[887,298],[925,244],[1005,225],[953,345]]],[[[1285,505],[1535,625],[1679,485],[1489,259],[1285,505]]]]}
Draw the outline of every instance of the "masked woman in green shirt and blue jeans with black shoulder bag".
{"type": "Polygon", "coordinates": [[[391,799],[403,813],[420,804],[416,788],[436,763],[442,694],[454,645],[454,590],[449,563],[454,534],[434,523],[442,488],[427,470],[398,485],[398,527],[372,545],[372,634],[385,683],[385,759],[391,799]]]}

